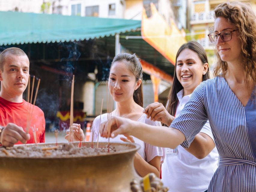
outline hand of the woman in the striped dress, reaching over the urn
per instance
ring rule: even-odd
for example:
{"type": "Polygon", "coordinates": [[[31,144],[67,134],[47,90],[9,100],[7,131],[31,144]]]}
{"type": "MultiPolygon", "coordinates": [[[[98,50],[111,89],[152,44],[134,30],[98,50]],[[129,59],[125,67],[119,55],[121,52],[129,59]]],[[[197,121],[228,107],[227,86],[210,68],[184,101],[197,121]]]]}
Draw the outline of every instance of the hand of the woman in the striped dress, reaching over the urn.
{"type": "Polygon", "coordinates": [[[112,117],[109,121],[101,123],[101,137],[116,137],[119,134],[131,135],[136,122],[123,117],[112,117]]]}

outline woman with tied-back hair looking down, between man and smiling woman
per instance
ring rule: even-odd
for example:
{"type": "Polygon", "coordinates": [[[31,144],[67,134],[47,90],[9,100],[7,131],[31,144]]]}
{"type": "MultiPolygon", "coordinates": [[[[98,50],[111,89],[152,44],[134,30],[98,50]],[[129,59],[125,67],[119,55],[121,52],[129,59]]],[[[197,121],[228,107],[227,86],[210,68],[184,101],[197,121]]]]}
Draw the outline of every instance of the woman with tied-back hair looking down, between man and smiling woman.
{"type": "MultiPolygon", "coordinates": [[[[161,126],[159,122],[153,122],[146,118],[143,113],[143,91],[142,91],[142,66],[135,54],[120,53],[116,55],[110,67],[108,88],[114,101],[116,109],[111,112],[111,116],[125,117],[137,122],[143,122],[149,125],[161,126]]],[[[101,115],[101,122],[107,120],[107,113],[101,115]]],[[[97,141],[99,131],[100,116],[96,117],[92,132],[93,140],[97,141]]],[[[80,140],[84,138],[83,130],[80,125],[73,124],[74,138],[80,140]]],[[[91,132],[91,136],[92,136],[91,132]]],[[[65,138],[68,138],[69,130],[65,138]]],[[[92,140],[92,137],[90,137],[92,140]]],[[[140,145],[139,151],[134,158],[134,168],[140,176],[146,176],[148,173],[155,173],[160,176],[161,157],[163,150],[160,147],[149,145],[137,138],[130,136],[124,137],[119,135],[113,141],[135,142],[140,145]]],[[[108,141],[106,138],[99,136],[99,141],[108,141]]]]}

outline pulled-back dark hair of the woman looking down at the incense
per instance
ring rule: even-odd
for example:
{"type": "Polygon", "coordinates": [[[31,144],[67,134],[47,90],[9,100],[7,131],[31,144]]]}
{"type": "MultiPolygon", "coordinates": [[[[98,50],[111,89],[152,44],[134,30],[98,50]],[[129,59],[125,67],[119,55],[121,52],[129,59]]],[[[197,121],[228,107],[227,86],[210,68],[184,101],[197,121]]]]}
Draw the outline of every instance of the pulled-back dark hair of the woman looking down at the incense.
{"type": "MultiPolygon", "coordinates": [[[[120,54],[116,55],[112,61],[111,67],[112,67],[113,63],[115,63],[117,61],[123,62],[126,64],[128,70],[134,74],[134,76],[136,78],[136,82],[139,79],[142,80],[142,77],[143,77],[142,66],[141,66],[139,58],[135,55],[135,53],[134,54],[120,53],[120,54]]],[[[111,69],[111,67],[110,67],[110,69],[111,69]]],[[[133,100],[135,101],[135,103],[137,103],[138,105],[143,107],[142,82],[141,82],[140,86],[136,90],[134,90],[133,100]]]]}

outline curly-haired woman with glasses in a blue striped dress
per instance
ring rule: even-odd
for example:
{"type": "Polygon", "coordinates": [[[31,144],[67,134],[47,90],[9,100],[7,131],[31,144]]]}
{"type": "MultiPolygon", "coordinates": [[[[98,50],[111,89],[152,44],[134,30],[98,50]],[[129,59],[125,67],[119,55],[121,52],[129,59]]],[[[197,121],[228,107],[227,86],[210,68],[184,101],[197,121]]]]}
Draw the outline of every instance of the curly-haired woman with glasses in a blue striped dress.
{"type": "Polygon", "coordinates": [[[110,123],[111,137],[125,133],[154,146],[188,148],[209,120],[219,167],[208,191],[255,192],[256,17],[241,2],[220,4],[214,13],[214,32],[209,38],[217,50],[216,77],[200,83],[170,128],[116,117],[101,125],[101,135],[107,137],[105,127],[110,123]]]}

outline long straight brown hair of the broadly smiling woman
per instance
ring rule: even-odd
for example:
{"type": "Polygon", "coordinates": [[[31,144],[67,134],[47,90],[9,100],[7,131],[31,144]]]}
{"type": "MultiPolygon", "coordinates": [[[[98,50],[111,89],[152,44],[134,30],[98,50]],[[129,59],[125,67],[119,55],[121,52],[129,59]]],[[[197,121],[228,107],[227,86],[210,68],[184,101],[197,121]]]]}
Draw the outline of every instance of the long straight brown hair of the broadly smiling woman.
{"type": "MultiPolygon", "coordinates": [[[[178,105],[178,97],[177,97],[177,93],[183,89],[181,83],[179,82],[177,75],[176,75],[176,66],[177,66],[177,58],[179,56],[179,54],[184,50],[184,49],[190,49],[191,51],[194,51],[198,57],[200,58],[200,60],[202,61],[202,64],[204,63],[208,63],[208,59],[207,59],[207,55],[205,50],[203,49],[203,46],[200,45],[199,43],[197,43],[196,41],[190,41],[188,43],[183,44],[177,54],[176,54],[176,61],[175,61],[175,70],[174,70],[174,77],[173,77],[173,85],[172,88],[169,91],[168,94],[168,99],[167,99],[167,111],[174,116],[175,112],[176,112],[176,108],[178,105]]],[[[207,70],[207,72],[205,73],[205,75],[203,75],[203,81],[207,80],[210,78],[209,75],[209,69],[207,70]]]]}

